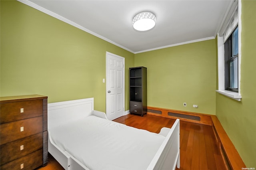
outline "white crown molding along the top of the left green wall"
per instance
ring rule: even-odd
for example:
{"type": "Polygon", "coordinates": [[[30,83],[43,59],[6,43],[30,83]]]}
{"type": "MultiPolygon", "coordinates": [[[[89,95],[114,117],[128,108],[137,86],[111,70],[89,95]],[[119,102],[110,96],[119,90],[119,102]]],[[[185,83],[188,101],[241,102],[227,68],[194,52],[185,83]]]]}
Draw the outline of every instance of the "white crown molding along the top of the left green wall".
{"type": "Polygon", "coordinates": [[[100,39],[102,39],[102,40],[105,40],[106,42],[112,43],[112,44],[114,44],[114,45],[116,45],[116,46],[118,46],[118,47],[121,47],[122,49],[125,49],[125,50],[127,50],[127,51],[130,51],[131,53],[134,53],[134,51],[132,51],[132,50],[130,50],[130,49],[128,49],[128,48],[126,48],[126,47],[124,47],[124,46],[118,44],[118,43],[115,43],[115,42],[109,40],[108,38],[105,38],[105,37],[103,37],[103,36],[100,36],[99,34],[96,34],[95,32],[92,32],[92,31],[90,31],[90,30],[88,30],[88,29],[86,29],[86,28],[84,28],[84,27],[82,27],[82,26],[76,24],[75,22],[72,22],[72,21],[70,21],[70,20],[64,18],[63,16],[60,16],[60,15],[58,15],[58,14],[56,14],[56,13],[50,11],[50,10],[47,10],[47,9],[45,9],[45,8],[42,8],[41,6],[38,6],[37,4],[34,4],[33,2],[31,2],[31,1],[29,1],[29,0],[18,0],[18,1],[19,1],[19,2],[22,2],[23,4],[26,4],[26,5],[30,6],[30,7],[32,7],[32,8],[35,8],[35,9],[41,11],[41,12],[44,12],[45,14],[48,14],[48,15],[54,17],[54,18],[57,18],[58,20],[61,20],[61,21],[63,21],[63,22],[66,22],[66,23],[68,23],[68,24],[70,24],[70,25],[72,25],[72,26],[74,26],[74,27],[76,27],[76,28],[79,28],[80,30],[83,30],[83,31],[85,31],[85,32],[88,32],[89,34],[92,34],[92,35],[94,35],[94,36],[96,36],[96,37],[98,37],[98,38],[100,38],[100,39]]]}

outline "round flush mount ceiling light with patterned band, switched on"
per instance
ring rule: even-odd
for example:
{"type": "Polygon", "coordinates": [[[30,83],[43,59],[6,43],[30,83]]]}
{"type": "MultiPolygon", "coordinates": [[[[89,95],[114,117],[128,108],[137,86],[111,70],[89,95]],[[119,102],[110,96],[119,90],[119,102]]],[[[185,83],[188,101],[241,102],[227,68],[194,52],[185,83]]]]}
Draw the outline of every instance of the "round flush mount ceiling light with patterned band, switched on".
{"type": "Polygon", "coordinates": [[[138,31],[147,31],[156,25],[156,16],[152,12],[140,12],[132,20],[132,26],[138,31]]]}

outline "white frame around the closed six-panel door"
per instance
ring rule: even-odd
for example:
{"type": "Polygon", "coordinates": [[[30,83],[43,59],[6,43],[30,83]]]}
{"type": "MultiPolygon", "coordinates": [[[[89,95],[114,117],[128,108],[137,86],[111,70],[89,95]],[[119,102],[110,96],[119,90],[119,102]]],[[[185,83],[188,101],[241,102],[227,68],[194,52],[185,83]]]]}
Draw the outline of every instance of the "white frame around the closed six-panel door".
{"type": "Polygon", "coordinates": [[[107,113],[107,104],[108,104],[108,101],[107,101],[107,95],[108,95],[108,85],[107,85],[107,83],[108,83],[108,79],[109,79],[109,77],[108,77],[108,54],[109,55],[113,55],[114,57],[118,57],[118,58],[120,58],[120,59],[122,59],[122,61],[123,61],[123,82],[122,82],[122,88],[123,88],[123,91],[122,91],[122,93],[123,93],[123,114],[122,114],[122,116],[124,116],[124,104],[125,104],[125,84],[124,84],[124,82],[125,82],[125,58],[124,57],[121,57],[121,56],[119,56],[119,55],[116,55],[116,54],[114,54],[114,53],[110,53],[110,52],[108,52],[108,51],[106,51],[106,115],[108,114],[107,113]]]}

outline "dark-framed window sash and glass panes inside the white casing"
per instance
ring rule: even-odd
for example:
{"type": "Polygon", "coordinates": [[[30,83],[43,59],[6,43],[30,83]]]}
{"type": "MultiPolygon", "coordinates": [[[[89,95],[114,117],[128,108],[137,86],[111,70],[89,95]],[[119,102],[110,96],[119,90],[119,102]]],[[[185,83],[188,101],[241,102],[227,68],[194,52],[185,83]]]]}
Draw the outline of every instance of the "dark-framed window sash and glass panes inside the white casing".
{"type": "Polygon", "coordinates": [[[225,90],[238,92],[238,27],[224,43],[225,90]]]}

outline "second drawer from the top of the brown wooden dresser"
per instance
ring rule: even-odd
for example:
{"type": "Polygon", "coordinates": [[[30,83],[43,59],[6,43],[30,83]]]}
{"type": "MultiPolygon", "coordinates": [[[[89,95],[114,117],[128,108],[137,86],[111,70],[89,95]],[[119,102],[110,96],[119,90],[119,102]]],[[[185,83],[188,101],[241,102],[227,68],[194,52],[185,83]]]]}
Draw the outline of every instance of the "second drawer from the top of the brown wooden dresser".
{"type": "Polygon", "coordinates": [[[1,144],[42,132],[42,127],[42,116],[1,124],[1,144]]]}

